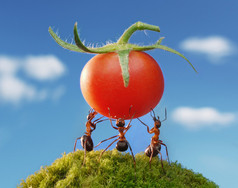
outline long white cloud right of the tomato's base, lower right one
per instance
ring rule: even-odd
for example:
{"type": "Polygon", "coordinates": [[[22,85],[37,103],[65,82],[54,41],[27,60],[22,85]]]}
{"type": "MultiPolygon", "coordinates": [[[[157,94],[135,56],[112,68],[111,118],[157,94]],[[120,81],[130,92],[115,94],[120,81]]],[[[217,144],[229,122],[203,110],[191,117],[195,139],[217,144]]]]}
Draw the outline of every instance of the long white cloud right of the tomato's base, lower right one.
{"type": "Polygon", "coordinates": [[[173,120],[187,128],[228,126],[236,119],[234,113],[222,113],[211,107],[179,107],[173,111],[173,120]]]}

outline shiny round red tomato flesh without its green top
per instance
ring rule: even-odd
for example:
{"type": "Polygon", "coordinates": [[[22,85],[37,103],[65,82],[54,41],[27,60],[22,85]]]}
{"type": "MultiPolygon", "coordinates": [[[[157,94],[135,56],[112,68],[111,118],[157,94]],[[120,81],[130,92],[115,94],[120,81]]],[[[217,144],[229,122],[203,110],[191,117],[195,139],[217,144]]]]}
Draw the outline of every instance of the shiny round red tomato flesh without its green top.
{"type": "Polygon", "coordinates": [[[147,53],[131,51],[129,74],[129,85],[125,87],[118,54],[112,52],[94,56],[85,65],[80,77],[85,100],[106,117],[109,117],[110,109],[110,117],[114,119],[130,119],[133,114],[137,118],[147,114],[163,95],[162,71],[147,53]]]}

